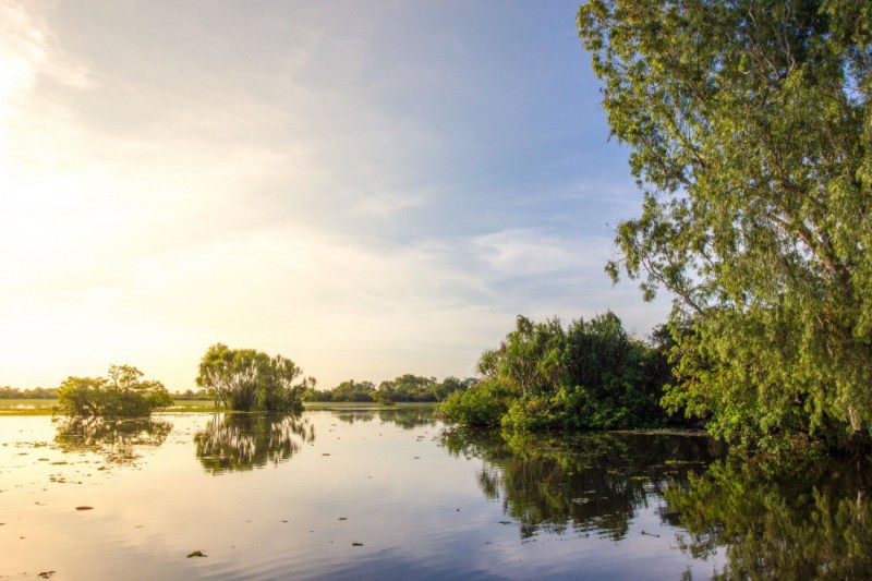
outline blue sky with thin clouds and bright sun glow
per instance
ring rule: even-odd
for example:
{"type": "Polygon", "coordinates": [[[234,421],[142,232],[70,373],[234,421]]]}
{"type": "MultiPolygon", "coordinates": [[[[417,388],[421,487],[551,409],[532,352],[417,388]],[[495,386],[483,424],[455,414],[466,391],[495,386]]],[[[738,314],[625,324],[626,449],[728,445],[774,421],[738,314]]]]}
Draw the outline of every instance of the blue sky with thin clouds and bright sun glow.
{"type": "Polygon", "coordinates": [[[213,343],[322,388],[472,376],[522,314],[644,303],[572,1],[4,0],[0,385],[213,343]]]}

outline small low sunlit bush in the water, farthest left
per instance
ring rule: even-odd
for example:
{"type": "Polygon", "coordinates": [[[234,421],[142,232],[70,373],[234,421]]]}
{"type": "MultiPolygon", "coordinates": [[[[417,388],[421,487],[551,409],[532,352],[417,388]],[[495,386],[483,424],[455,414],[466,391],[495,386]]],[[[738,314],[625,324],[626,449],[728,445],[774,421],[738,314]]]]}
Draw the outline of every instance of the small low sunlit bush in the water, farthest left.
{"type": "Polygon", "coordinates": [[[130,365],[111,365],[109,378],[68,377],[58,388],[57,412],[70,416],[147,416],[172,406],[164,384],[143,380],[130,365]]]}

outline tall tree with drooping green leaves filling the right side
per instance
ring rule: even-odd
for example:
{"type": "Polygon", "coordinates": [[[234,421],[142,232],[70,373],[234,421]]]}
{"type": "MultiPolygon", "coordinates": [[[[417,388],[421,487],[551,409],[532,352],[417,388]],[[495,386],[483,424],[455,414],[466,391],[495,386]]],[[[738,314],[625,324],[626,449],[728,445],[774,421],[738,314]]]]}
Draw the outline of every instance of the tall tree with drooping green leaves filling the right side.
{"type": "Polygon", "coordinates": [[[872,9],[591,0],[579,33],[644,187],[621,258],[677,296],[665,403],[748,443],[872,421],[872,9]]]}

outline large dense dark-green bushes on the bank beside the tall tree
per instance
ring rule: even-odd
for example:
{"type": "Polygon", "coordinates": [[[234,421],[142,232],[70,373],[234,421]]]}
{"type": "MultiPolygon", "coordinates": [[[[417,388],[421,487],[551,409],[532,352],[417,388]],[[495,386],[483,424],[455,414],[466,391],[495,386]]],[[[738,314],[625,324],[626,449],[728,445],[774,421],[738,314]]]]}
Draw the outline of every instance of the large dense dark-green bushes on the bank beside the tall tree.
{"type": "Polygon", "coordinates": [[[613,313],[566,329],[558,319],[519,316],[499,348],[482,355],[484,380],[449,396],[440,409],[461,424],[500,422],[521,431],[652,425],[663,420],[663,359],[630,338],[613,313]]]}

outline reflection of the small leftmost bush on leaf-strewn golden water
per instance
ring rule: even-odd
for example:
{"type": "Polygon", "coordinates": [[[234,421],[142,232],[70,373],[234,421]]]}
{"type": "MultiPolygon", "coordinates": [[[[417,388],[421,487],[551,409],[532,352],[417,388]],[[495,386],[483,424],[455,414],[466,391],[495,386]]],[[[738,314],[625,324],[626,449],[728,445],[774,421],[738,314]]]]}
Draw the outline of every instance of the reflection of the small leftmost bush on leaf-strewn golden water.
{"type": "Polygon", "coordinates": [[[164,444],[172,423],[164,420],[107,420],[104,417],[61,417],[57,420],[55,443],[64,452],[99,453],[107,462],[133,463],[142,446],[164,444]]]}

